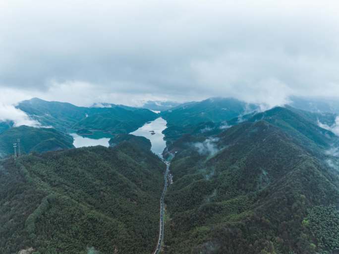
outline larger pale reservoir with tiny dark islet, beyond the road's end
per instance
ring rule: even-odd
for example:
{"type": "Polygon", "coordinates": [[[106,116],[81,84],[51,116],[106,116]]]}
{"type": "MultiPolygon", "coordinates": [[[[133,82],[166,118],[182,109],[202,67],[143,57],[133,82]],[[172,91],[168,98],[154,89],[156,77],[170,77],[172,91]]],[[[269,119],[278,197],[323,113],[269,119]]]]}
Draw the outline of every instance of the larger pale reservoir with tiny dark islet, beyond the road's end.
{"type": "Polygon", "coordinates": [[[166,129],[167,122],[163,118],[157,118],[156,120],[145,124],[137,130],[131,132],[135,136],[144,136],[151,140],[151,150],[159,155],[162,154],[165,147],[166,141],[164,140],[165,135],[162,133],[166,129]]]}

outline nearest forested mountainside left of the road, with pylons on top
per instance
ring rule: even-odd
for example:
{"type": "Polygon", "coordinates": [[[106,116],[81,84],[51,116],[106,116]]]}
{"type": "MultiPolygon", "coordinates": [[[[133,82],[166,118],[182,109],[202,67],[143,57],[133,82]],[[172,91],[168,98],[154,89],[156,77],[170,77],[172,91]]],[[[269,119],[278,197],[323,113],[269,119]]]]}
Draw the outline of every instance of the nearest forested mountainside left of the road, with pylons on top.
{"type": "Polygon", "coordinates": [[[0,253],[150,254],[165,164],[131,142],[0,165],[0,253]]]}

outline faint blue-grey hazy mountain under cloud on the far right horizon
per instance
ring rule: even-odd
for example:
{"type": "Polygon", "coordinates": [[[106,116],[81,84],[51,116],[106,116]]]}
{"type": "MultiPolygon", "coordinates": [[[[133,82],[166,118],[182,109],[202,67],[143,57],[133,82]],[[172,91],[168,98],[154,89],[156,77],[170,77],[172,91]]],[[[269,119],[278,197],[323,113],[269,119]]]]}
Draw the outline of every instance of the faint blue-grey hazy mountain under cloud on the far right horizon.
{"type": "Polygon", "coordinates": [[[291,97],[289,105],[310,112],[339,113],[339,100],[321,98],[291,97]]]}

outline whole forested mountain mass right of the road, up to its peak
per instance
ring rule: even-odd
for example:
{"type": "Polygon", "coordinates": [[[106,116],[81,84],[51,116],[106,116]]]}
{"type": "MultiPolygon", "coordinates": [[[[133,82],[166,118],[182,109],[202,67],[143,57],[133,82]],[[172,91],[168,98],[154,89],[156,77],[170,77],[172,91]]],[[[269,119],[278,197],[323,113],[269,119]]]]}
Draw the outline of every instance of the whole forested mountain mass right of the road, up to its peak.
{"type": "Polygon", "coordinates": [[[173,142],[166,253],[335,253],[337,137],[284,108],[249,120],[173,142]]]}

